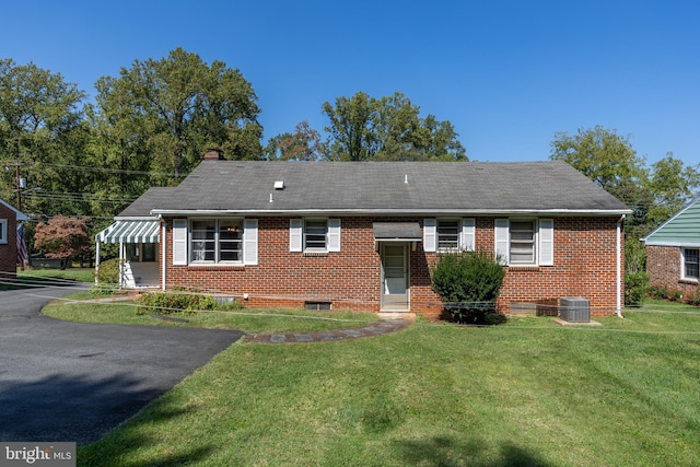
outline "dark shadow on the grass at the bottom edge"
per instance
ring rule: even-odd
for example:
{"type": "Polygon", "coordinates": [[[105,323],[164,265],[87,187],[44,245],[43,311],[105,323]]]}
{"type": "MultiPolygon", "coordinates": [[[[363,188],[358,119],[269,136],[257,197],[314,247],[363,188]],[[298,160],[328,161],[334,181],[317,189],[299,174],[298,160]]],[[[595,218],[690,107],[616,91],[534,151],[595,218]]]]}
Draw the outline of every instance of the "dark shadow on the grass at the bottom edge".
{"type": "Polygon", "coordinates": [[[494,448],[492,443],[480,439],[455,440],[452,436],[434,436],[425,441],[401,441],[395,445],[397,454],[406,465],[427,466],[481,466],[481,467],[549,467],[551,464],[536,453],[502,443],[494,448]]]}

